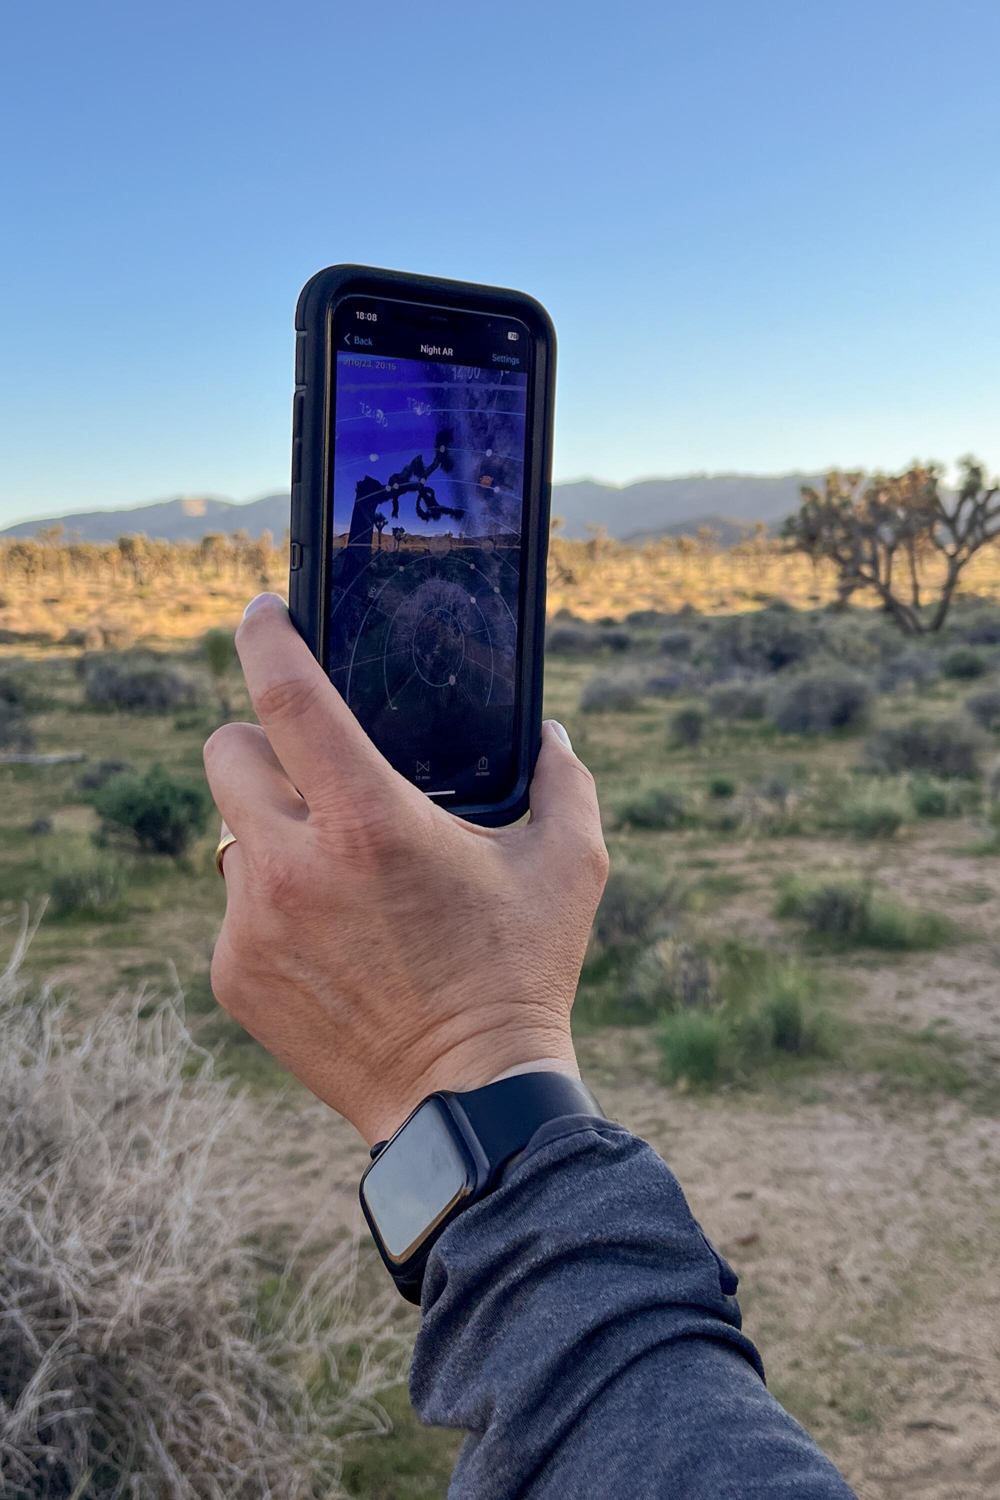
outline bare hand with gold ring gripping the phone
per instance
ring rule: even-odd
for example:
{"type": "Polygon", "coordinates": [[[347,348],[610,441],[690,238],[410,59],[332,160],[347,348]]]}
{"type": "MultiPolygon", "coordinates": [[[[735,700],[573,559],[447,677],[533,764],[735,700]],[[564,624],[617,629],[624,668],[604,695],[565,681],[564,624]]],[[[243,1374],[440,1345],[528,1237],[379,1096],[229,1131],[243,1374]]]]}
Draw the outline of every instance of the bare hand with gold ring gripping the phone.
{"type": "Polygon", "coordinates": [[[226,825],[220,1005],[372,1143],[435,1089],[576,1071],[570,1008],[607,852],[594,778],[547,723],[531,820],[465,824],[363,732],[276,594],[237,650],[261,722],[205,770],[226,825]]]}

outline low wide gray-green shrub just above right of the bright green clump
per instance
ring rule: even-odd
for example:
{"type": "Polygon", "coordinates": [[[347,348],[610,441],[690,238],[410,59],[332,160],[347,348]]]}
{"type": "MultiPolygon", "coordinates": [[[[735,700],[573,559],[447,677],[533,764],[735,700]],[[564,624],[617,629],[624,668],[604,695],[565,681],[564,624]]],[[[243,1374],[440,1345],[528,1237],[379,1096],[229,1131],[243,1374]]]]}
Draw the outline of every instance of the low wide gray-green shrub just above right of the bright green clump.
{"type": "Polygon", "coordinates": [[[939,912],[903,906],[852,874],[783,882],[775,915],[798,918],[811,936],[837,948],[939,948],[952,936],[939,912]]]}

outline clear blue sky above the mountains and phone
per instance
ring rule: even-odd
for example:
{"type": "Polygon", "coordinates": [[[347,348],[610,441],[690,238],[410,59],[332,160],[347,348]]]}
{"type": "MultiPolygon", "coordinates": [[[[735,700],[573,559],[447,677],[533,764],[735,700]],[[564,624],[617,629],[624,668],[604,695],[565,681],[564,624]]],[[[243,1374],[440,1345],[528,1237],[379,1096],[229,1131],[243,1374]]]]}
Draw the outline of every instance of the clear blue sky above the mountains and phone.
{"type": "Polygon", "coordinates": [[[0,520],[288,483],[324,264],[522,286],[556,478],[1000,468],[996,0],[54,0],[0,60],[0,520]]]}

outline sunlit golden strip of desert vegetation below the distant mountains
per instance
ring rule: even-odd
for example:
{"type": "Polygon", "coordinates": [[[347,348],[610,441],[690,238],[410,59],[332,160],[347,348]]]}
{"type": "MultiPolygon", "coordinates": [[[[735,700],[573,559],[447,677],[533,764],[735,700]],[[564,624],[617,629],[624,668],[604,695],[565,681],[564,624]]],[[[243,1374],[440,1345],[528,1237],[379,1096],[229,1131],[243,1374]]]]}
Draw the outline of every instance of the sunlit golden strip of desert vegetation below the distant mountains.
{"type": "MultiPolygon", "coordinates": [[[[288,544],[208,536],[204,543],[121,538],[69,544],[58,537],[0,540],[0,642],[127,645],[183,642],[213,626],[234,626],[261,588],[285,591],[288,544]]],[[[924,585],[933,590],[934,564],[924,585]]],[[[1000,552],[984,549],[963,574],[963,590],[1000,597],[1000,552]]],[[[549,610],[583,620],[621,620],[633,610],[702,614],[756,609],[783,598],[798,609],[837,598],[834,570],[789,552],[757,528],[721,548],[711,531],[630,546],[595,534],[552,538],[549,610]]],[[[858,594],[856,603],[874,604],[858,594]]]]}

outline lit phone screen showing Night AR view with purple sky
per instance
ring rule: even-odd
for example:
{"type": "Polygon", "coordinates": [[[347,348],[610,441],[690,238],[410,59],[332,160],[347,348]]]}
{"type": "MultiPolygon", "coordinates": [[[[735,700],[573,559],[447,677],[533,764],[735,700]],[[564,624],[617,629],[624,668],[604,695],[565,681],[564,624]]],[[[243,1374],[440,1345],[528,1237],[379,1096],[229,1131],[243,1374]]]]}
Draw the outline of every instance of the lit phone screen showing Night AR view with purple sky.
{"type": "Polygon", "coordinates": [[[442,806],[513,790],[532,339],[373,297],[333,309],[327,670],[442,806]]]}

